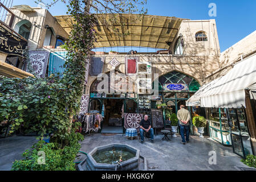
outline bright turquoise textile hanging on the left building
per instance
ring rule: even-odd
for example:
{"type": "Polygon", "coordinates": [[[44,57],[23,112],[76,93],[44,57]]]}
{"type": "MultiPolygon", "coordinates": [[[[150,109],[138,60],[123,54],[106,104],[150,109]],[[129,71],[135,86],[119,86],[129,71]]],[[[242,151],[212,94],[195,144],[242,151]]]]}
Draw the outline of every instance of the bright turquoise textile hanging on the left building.
{"type": "Polygon", "coordinates": [[[67,51],[51,52],[49,67],[48,67],[48,76],[51,74],[59,73],[60,76],[63,75],[65,68],[63,67],[66,62],[67,51]]]}

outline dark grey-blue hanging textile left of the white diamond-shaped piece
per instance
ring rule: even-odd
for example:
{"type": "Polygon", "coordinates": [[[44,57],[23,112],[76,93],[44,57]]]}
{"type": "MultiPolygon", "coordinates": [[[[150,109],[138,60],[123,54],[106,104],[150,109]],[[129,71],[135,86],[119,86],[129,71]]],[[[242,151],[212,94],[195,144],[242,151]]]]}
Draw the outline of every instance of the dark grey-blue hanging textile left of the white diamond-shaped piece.
{"type": "Polygon", "coordinates": [[[91,57],[90,75],[98,76],[103,71],[105,57],[91,57]]]}

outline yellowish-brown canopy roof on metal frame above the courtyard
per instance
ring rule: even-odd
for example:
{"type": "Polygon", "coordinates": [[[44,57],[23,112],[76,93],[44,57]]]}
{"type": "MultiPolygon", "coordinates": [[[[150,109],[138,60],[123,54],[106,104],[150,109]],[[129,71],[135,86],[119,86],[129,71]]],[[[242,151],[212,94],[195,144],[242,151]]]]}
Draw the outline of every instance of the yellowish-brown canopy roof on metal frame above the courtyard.
{"type": "MultiPolygon", "coordinates": [[[[138,16],[138,14],[98,14],[98,26],[95,27],[98,40],[95,47],[127,46],[169,49],[182,20],[188,20],[156,15],[141,15],[140,18],[138,16]],[[124,26],[120,26],[119,23],[111,27],[106,26],[106,22],[113,16],[119,22],[124,23],[124,26]]],[[[69,15],[55,16],[55,18],[69,34],[74,18],[69,15]]]]}

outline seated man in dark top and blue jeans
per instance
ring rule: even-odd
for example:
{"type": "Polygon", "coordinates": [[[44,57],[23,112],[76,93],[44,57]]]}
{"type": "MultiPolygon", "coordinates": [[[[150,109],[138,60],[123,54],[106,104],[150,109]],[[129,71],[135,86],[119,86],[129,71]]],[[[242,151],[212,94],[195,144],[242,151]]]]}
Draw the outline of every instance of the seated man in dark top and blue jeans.
{"type": "Polygon", "coordinates": [[[150,132],[151,143],[154,143],[154,130],[151,127],[151,122],[148,120],[148,115],[144,116],[144,119],[140,122],[140,139],[141,143],[144,142],[144,132],[150,132]]]}

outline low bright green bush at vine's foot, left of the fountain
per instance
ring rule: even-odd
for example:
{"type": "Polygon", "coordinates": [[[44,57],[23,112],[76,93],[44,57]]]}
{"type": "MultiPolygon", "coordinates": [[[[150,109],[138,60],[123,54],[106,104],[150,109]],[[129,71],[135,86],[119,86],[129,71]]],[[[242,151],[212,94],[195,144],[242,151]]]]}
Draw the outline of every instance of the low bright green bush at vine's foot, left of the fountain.
{"type": "Polygon", "coordinates": [[[75,171],[74,159],[80,149],[79,140],[83,135],[71,133],[68,139],[68,145],[59,148],[55,143],[45,143],[40,140],[32,146],[31,150],[23,153],[25,159],[15,160],[13,171],[75,171]],[[40,160],[44,158],[45,163],[40,160]]]}

